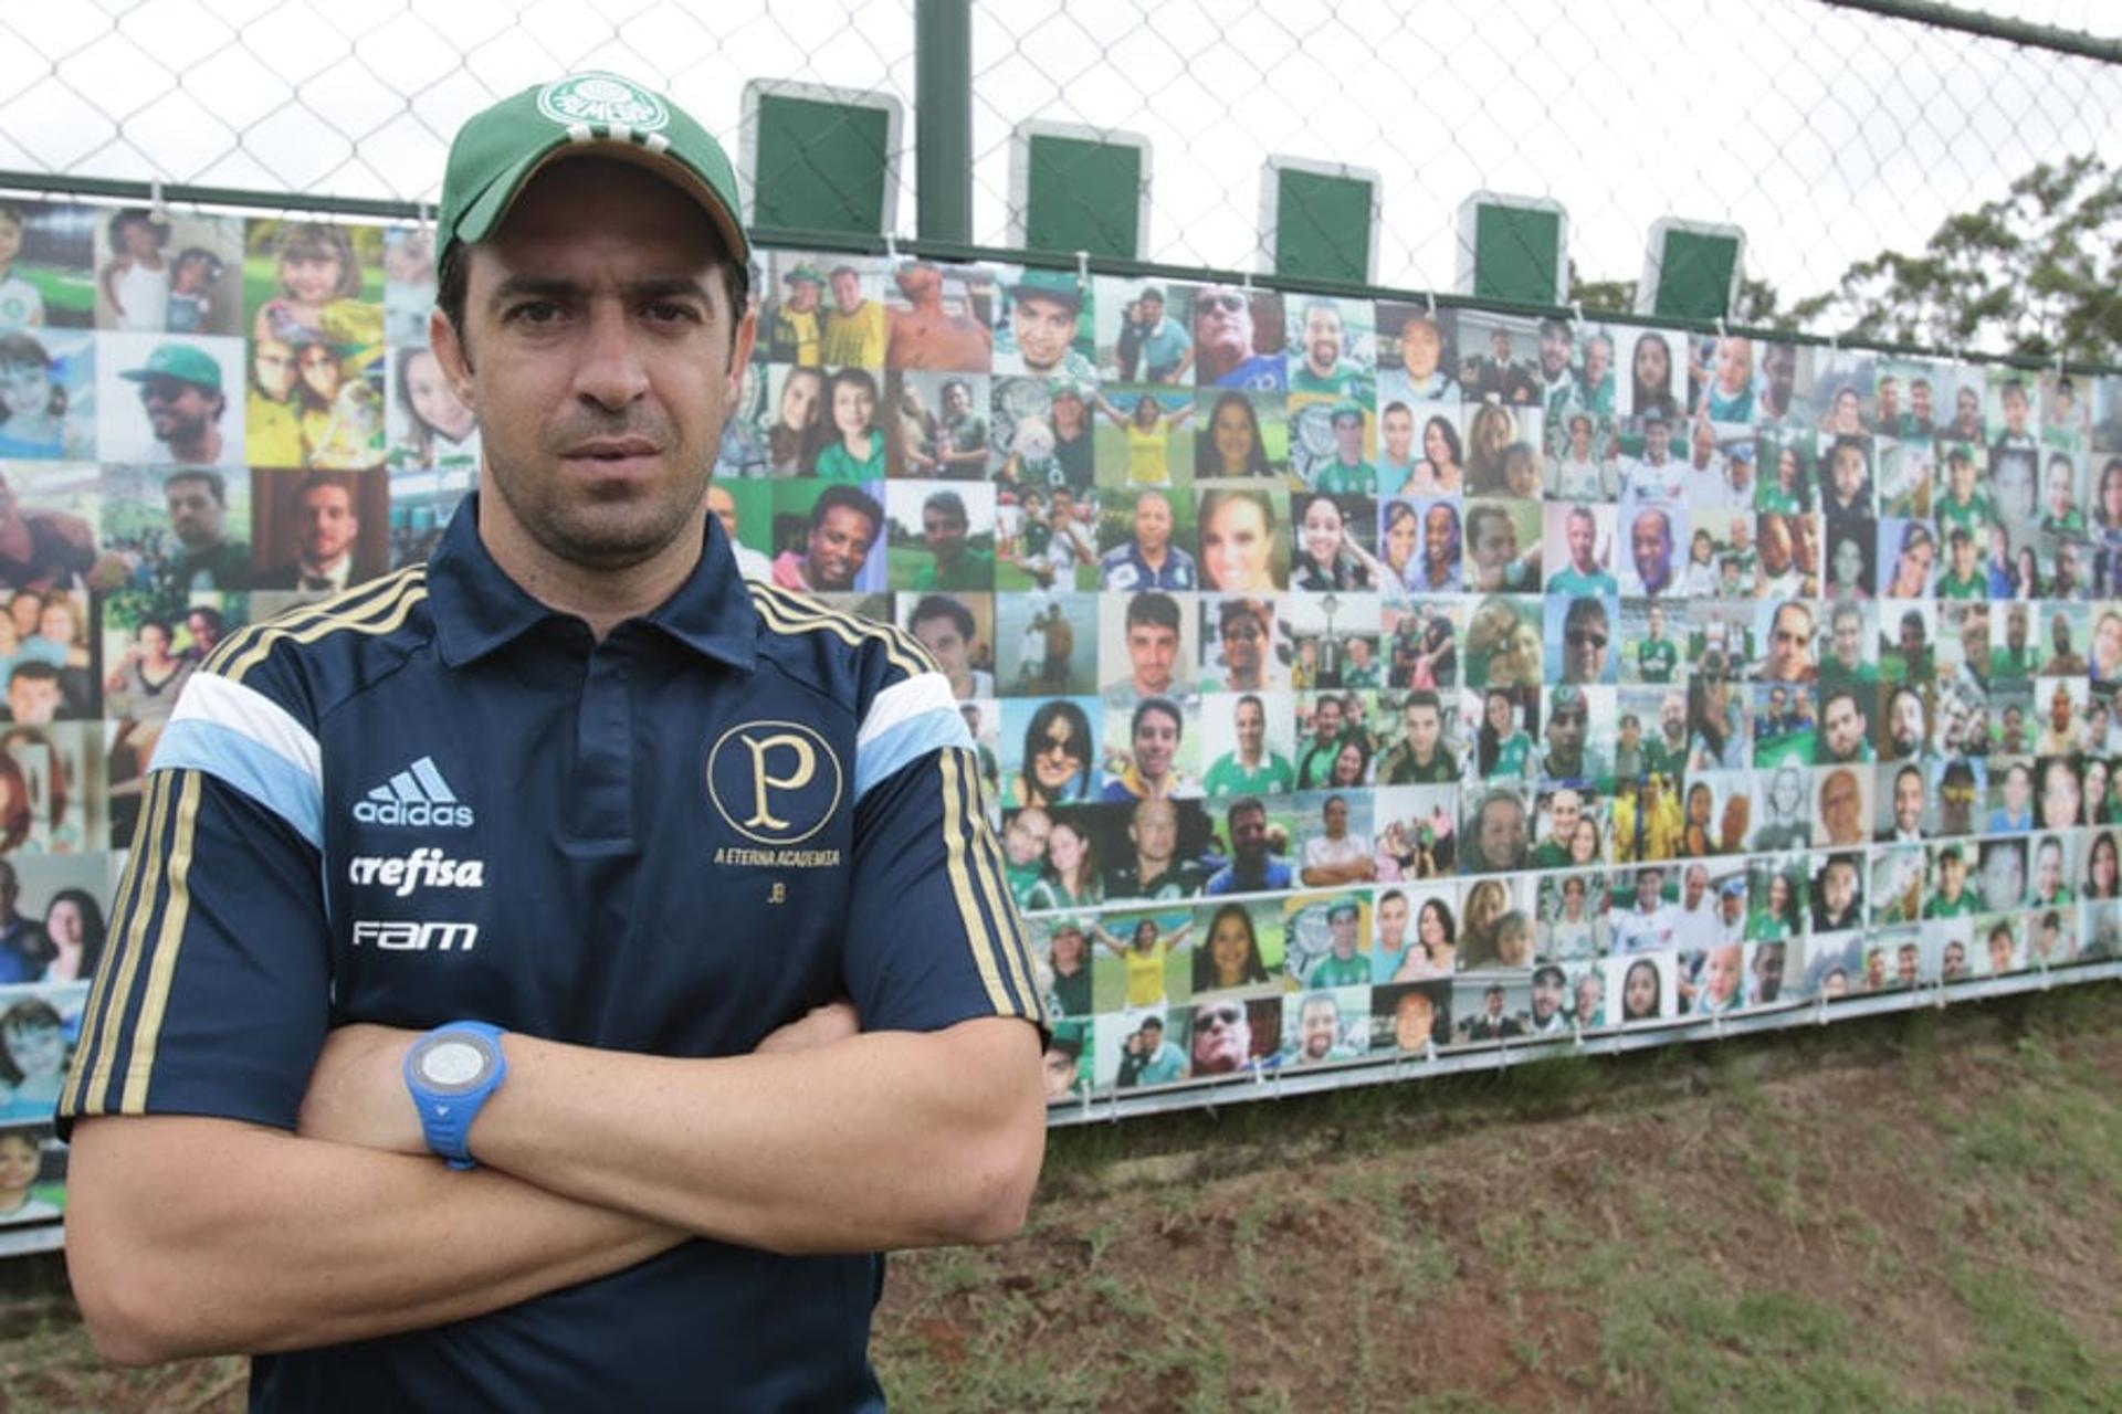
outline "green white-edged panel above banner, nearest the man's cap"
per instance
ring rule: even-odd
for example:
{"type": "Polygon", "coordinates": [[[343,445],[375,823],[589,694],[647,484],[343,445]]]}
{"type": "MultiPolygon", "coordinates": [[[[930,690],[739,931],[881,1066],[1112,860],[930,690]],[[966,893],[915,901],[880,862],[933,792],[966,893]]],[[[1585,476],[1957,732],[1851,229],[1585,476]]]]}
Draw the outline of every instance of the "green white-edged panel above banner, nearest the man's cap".
{"type": "Polygon", "coordinates": [[[889,174],[889,110],[760,95],[753,225],[879,235],[889,174]]]}

